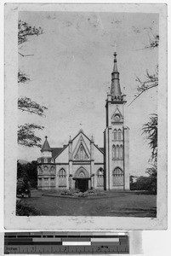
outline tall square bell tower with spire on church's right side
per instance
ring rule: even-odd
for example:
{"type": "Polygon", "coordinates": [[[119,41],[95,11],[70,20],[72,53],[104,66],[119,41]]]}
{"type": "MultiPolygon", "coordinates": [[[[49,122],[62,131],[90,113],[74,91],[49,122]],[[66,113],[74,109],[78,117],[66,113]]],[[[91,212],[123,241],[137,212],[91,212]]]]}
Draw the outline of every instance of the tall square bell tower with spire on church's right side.
{"type": "Polygon", "coordinates": [[[124,122],[126,103],[117,71],[117,53],[114,53],[114,67],[111,73],[111,91],[105,102],[105,189],[128,190],[128,127],[124,122]]]}

